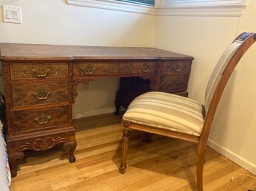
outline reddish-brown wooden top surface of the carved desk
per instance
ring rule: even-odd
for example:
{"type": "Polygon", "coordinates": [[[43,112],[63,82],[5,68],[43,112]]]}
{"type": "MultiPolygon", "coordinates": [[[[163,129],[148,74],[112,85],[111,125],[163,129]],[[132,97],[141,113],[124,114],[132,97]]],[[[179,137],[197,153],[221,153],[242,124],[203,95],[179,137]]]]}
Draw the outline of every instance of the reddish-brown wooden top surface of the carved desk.
{"type": "Polygon", "coordinates": [[[0,61],[26,59],[193,59],[157,48],[0,43],[0,61]]]}

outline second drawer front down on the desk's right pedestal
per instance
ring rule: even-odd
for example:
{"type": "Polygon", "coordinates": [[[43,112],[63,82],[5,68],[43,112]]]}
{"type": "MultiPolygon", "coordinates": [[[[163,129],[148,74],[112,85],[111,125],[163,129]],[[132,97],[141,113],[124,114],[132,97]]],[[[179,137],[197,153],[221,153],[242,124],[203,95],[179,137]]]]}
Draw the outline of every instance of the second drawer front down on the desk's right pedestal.
{"type": "Polygon", "coordinates": [[[166,91],[171,93],[187,91],[188,80],[189,74],[163,76],[160,79],[159,91],[166,91]]]}

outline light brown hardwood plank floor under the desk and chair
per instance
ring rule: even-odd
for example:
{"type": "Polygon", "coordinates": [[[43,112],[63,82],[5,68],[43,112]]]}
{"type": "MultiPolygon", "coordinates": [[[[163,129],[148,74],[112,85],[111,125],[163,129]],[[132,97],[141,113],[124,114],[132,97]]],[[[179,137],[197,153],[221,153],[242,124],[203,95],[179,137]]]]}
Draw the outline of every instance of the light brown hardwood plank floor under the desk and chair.
{"type": "MultiPolygon", "coordinates": [[[[119,169],[121,117],[113,114],[74,121],[77,161],[69,163],[60,146],[46,152],[25,152],[10,191],[190,191],[196,190],[196,144],[153,136],[142,143],[132,132],[125,175],[119,169]]],[[[256,180],[237,164],[207,148],[206,191],[256,190],[256,180]]]]}

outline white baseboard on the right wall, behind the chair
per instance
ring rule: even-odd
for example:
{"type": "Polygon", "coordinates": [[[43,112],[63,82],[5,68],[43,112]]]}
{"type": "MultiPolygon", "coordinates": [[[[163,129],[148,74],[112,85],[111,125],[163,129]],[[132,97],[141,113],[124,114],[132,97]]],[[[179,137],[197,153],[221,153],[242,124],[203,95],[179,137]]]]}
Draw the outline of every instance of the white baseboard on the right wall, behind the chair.
{"type": "Polygon", "coordinates": [[[218,143],[214,142],[213,140],[208,140],[207,145],[219,152],[221,155],[225,156],[226,158],[230,159],[234,163],[242,166],[244,169],[252,172],[252,174],[256,175],[256,165],[252,164],[250,161],[247,161],[245,158],[240,157],[239,155],[231,152],[230,150],[226,149],[225,147],[219,145],[218,143]]]}

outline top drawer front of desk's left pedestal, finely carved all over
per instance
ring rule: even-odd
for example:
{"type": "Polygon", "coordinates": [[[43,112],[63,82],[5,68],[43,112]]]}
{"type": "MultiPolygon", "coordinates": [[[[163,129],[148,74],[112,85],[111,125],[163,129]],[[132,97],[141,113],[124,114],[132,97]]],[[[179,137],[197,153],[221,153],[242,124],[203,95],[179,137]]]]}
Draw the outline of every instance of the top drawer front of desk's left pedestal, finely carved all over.
{"type": "Polygon", "coordinates": [[[12,80],[43,79],[55,77],[68,77],[67,63],[12,63],[10,64],[12,80]]]}

